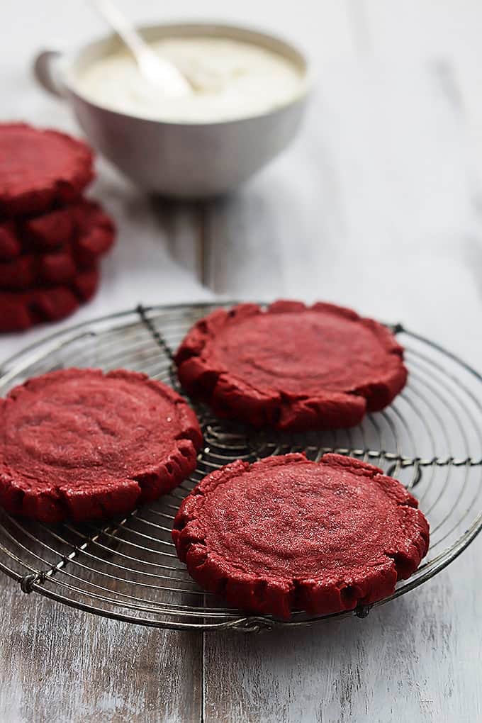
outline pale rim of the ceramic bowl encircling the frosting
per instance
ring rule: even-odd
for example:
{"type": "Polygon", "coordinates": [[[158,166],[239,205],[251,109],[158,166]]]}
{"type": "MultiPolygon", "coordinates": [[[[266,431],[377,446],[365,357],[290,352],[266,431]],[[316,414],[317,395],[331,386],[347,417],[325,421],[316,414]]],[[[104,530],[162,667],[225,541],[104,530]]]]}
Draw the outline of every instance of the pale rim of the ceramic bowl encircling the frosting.
{"type": "MultiPolygon", "coordinates": [[[[116,108],[112,108],[111,106],[103,105],[103,103],[94,101],[92,100],[92,98],[89,98],[88,95],[82,93],[79,90],[75,77],[79,64],[81,64],[82,61],[85,61],[86,56],[89,53],[95,52],[96,48],[101,49],[102,46],[108,46],[109,43],[118,42],[116,33],[107,33],[106,35],[102,35],[92,40],[88,40],[86,43],[82,43],[82,46],[80,46],[73,52],[61,54],[60,77],[61,85],[63,85],[64,90],[66,90],[69,94],[74,95],[79,100],[82,100],[83,103],[87,103],[92,108],[98,108],[102,111],[107,111],[108,113],[115,116],[121,116],[126,119],[132,119],[135,121],[142,121],[145,123],[156,125],[194,128],[225,126],[229,124],[240,123],[242,121],[253,121],[255,119],[262,119],[269,116],[274,116],[278,112],[284,111],[286,108],[290,108],[291,106],[296,106],[296,104],[304,102],[313,90],[314,72],[313,64],[311,62],[309,54],[306,51],[302,51],[301,48],[296,46],[293,42],[291,42],[291,40],[287,40],[286,38],[283,38],[282,36],[275,33],[270,33],[266,30],[260,30],[259,28],[251,25],[238,25],[237,23],[208,20],[183,20],[179,22],[173,21],[154,23],[151,22],[136,27],[139,33],[141,33],[141,35],[149,35],[150,33],[155,34],[159,31],[167,31],[165,37],[169,37],[171,33],[173,37],[176,37],[176,35],[178,35],[178,37],[182,37],[182,32],[188,33],[188,37],[200,37],[202,35],[204,35],[205,37],[210,37],[210,33],[212,33],[212,37],[223,37],[225,33],[225,37],[227,38],[232,38],[233,40],[240,40],[241,42],[246,43],[251,42],[254,45],[264,46],[265,48],[268,48],[274,52],[278,52],[285,58],[292,59],[293,62],[296,58],[302,68],[303,73],[302,82],[300,83],[300,90],[289,100],[286,100],[284,103],[280,103],[275,108],[270,108],[267,111],[261,111],[258,113],[242,115],[236,118],[219,121],[166,121],[163,119],[149,118],[147,116],[119,111],[116,110],[116,108]],[[240,37],[242,35],[245,35],[246,37],[240,37]],[[276,47],[272,48],[271,44],[274,44],[276,47]]],[[[160,37],[163,37],[163,35],[161,35],[160,37]]]]}

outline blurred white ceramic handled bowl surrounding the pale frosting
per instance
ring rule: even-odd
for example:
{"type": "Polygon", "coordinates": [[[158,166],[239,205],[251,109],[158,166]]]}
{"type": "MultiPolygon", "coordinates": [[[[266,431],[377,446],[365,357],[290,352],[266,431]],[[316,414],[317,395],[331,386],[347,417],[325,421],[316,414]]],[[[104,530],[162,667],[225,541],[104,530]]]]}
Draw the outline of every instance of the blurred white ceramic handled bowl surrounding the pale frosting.
{"type": "Polygon", "coordinates": [[[44,51],[35,74],[47,90],[66,98],[88,140],[132,181],[148,192],[202,198],[223,194],[259,171],[296,135],[309,92],[306,57],[283,40],[228,25],[151,25],[146,40],[210,36],[255,43],[290,59],[305,74],[298,97],[264,114],[214,123],[166,123],[130,116],[93,103],[75,87],[76,74],[119,48],[111,35],[72,56],[44,51]]]}

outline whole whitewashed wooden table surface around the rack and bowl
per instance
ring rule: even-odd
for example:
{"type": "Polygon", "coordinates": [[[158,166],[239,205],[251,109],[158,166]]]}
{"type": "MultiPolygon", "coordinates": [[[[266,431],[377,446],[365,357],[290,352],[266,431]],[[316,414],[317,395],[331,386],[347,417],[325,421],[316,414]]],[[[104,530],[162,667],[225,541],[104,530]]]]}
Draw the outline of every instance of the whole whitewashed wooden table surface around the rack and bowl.
{"type": "MultiPolygon", "coordinates": [[[[202,15],[272,28],[311,52],[319,81],[303,132],[212,204],[148,200],[99,163],[92,194],[117,219],[119,243],[97,298],[72,321],[215,294],[327,299],[403,321],[482,369],[482,5],[227,6],[205,1],[202,15]]],[[[137,19],[157,7],[138,0],[137,19]]],[[[166,17],[199,17],[199,4],[166,17]]],[[[2,31],[1,116],[74,130],[62,103],[35,88],[30,59],[101,23],[87,4],[9,0],[2,31]]],[[[5,336],[0,361],[51,330],[5,336]]],[[[0,720],[481,720],[481,552],[478,539],[366,620],[261,636],[103,620],[2,576],[0,720]]]]}

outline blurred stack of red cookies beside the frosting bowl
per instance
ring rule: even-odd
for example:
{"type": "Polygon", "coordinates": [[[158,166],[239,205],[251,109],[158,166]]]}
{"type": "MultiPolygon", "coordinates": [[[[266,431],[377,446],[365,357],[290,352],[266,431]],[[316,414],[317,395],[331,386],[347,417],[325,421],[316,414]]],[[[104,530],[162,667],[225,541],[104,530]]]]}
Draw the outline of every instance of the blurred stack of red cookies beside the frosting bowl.
{"type": "Polygon", "coordinates": [[[95,294],[115,228],[82,197],[92,162],[66,134],[0,124],[0,331],[62,319],[95,294]]]}

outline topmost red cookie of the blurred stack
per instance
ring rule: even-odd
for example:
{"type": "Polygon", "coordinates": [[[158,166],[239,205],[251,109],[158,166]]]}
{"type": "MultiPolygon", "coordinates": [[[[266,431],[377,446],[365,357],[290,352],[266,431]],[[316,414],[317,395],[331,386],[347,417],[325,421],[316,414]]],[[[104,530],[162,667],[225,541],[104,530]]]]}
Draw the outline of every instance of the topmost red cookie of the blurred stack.
{"type": "Polygon", "coordinates": [[[84,142],[23,123],[0,124],[0,215],[72,202],[93,175],[92,151],[84,142]]]}

